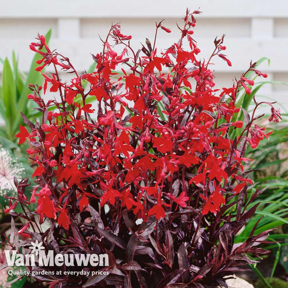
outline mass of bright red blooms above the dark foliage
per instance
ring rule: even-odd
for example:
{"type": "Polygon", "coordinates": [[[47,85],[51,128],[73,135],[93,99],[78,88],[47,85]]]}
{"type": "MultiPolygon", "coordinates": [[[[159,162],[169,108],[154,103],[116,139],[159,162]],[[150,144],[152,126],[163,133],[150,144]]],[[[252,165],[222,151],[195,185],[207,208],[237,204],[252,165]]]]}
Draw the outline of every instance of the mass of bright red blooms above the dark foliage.
{"type": "MultiPolygon", "coordinates": [[[[253,119],[244,129],[247,130],[246,137],[238,137],[233,142],[227,132],[230,126],[241,128],[243,125],[241,121],[231,123],[230,119],[239,111],[235,101],[241,86],[250,94],[247,85],[254,84],[245,78],[245,74],[255,71],[257,75],[266,75],[251,64],[236,85],[223,88],[220,93],[213,89],[214,76],[209,69],[211,58],[218,55],[231,66],[226,56],[219,53],[226,49],[221,45],[224,37],[215,39],[215,50],[207,63],[197,60],[200,50],[190,37],[193,31],[188,29],[194,27],[196,21],[192,14],[190,16],[191,21],[185,19],[179,43],[158,53],[149,40],[146,41],[147,48],[143,46],[134,52],[126,42],[131,36],[121,34],[119,24],[112,25],[103,52],[93,55],[95,72],[81,76],[68,58],[51,52],[43,35],[37,38],[39,43],[31,43],[31,50],[43,56],[37,62],[43,62],[37,71],[51,63],[55,66],[55,74],[42,74],[44,94],[49,83],[50,91],[59,91],[61,100],[60,103],[55,100],[45,103],[40,96],[41,87],[37,90],[30,86],[34,94],[28,98],[43,111],[43,123],[33,125],[30,133],[20,126],[20,133],[16,135],[20,138],[19,144],[26,139],[33,141],[36,149],[29,149],[28,154],[39,154],[34,159],[38,168],[33,176],[37,176],[36,183],[42,187],[36,194],[39,196],[37,213],[41,219],[43,215],[56,219],[56,213],[61,211],[59,224],[65,218],[63,227],[68,229],[70,220],[64,206],[71,204],[74,198],[78,201],[74,200],[73,205],[81,205],[83,209],[88,206],[88,198],[96,198],[100,199],[101,206],[117,206],[120,211],[124,207],[133,209],[137,218],[144,221],[151,215],[160,220],[174,209],[173,202],[175,209],[178,205],[186,207],[195,197],[194,191],[200,196],[196,197],[195,206],[202,206],[205,215],[209,211],[216,213],[221,204],[225,204],[225,190],[221,187],[227,186],[229,177],[238,184],[236,187],[242,187],[241,183],[246,179],[238,174],[238,168],[246,159],[237,147],[248,141],[255,148],[270,133],[264,134],[265,129],[256,124],[251,128],[253,119]],[[115,44],[124,46],[120,55],[109,44],[109,37],[115,44]],[[182,48],[184,38],[190,44],[190,51],[182,48]],[[43,46],[47,53],[41,52],[43,46]],[[128,57],[128,51],[132,58],[128,57]],[[141,51],[144,56],[140,56],[141,51]],[[59,56],[60,62],[57,60],[59,56]],[[123,64],[130,72],[117,68],[123,64]],[[62,83],[57,66],[72,70],[75,78],[70,83],[62,83]],[[171,67],[171,72],[162,72],[165,67],[171,67]],[[124,76],[115,79],[117,73],[112,72],[115,69],[122,70],[124,76]],[[196,80],[195,90],[184,90],[184,87],[191,89],[193,78],[196,80]],[[88,91],[84,90],[84,83],[89,84],[88,91]],[[98,102],[97,120],[93,120],[92,105],[86,104],[88,95],[95,96],[98,102]],[[76,102],[76,98],[81,101],[76,102]],[[163,111],[160,107],[164,107],[163,111]],[[57,108],[58,112],[52,112],[51,108],[57,108]],[[35,137],[39,139],[37,142],[35,137]],[[172,195],[171,185],[177,179],[182,192],[172,195]],[[53,181],[56,184],[53,185],[53,181]],[[167,199],[170,199],[168,203],[167,199]],[[66,204],[61,204],[61,200],[66,204]]],[[[170,32],[161,22],[156,23],[156,29],[159,27],[170,32]]],[[[271,110],[270,121],[278,121],[279,111],[274,107],[271,110]]],[[[34,194],[35,191],[33,199],[34,194]]]]}

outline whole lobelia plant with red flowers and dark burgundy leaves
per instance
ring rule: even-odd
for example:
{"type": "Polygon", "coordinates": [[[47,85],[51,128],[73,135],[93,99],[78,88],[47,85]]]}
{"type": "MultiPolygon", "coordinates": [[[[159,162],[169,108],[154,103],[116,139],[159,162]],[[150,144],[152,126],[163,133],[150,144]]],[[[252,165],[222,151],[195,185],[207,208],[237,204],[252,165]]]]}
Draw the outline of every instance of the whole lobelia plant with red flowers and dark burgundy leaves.
{"type": "MultiPolygon", "coordinates": [[[[224,277],[254,263],[249,255],[269,252],[257,245],[267,243],[273,229],[254,235],[259,221],[244,242],[235,244],[234,237],[259,203],[247,207],[264,190],[247,191],[253,181],[243,166],[250,161],[245,158],[247,145],[255,148],[271,133],[255,123],[255,110],[267,103],[274,122],[280,112],[273,103],[254,98],[252,116],[242,110],[244,127],[242,121],[232,121],[240,111],[238,94],[250,94],[254,84],[248,75],[267,75],[251,62],[232,87],[214,89],[212,58],[220,57],[229,66],[231,62],[222,53],[224,35],[215,39],[208,61],[197,60],[200,50],[191,35],[194,14],[199,13],[187,9],[183,28],[178,26],[179,41],[161,52],[155,46],[159,28],[170,32],[162,21],[156,23],[153,46],[146,40],[138,51],[130,46],[131,36],[123,35],[119,24],[112,25],[103,51],[92,55],[96,70],[88,74],[78,75],[67,57],[49,49],[43,35],[31,43],[31,50],[43,57],[36,70],[53,65],[55,73],[42,73],[43,88],[29,85],[33,93],[28,98],[38,104],[43,117],[32,123],[23,115],[30,129],[21,128],[16,137],[34,146],[27,153],[38,165],[33,174],[36,186],[27,199],[28,179],[15,180],[18,197],[7,196],[5,212],[11,213],[19,203],[23,213],[12,215],[26,224],[18,234],[43,242],[46,251],[109,255],[109,266],[102,268],[109,275],[35,275],[35,287],[227,288],[224,277]],[[113,45],[123,46],[123,52],[115,52],[113,45]],[[61,82],[59,68],[74,74],[71,82],[61,82]],[[115,80],[112,70],[117,68],[124,75],[115,80]],[[45,103],[41,98],[48,84],[50,91],[59,92],[59,101],[45,103]],[[74,101],[77,95],[80,103],[74,101]],[[96,112],[86,104],[88,95],[97,98],[96,112]],[[57,111],[48,111],[51,107],[57,111]],[[230,139],[236,128],[242,129],[240,134],[230,139]],[[29,204],[36,201],[32,212],[29,204]],[[51,223],[46,231],[43,221],[51,223]]],[[[19,253],[19,247],[31,242],[6,240],[19,253]]],[[[65,265],[41,269],[72,271],[65,265]]]]}

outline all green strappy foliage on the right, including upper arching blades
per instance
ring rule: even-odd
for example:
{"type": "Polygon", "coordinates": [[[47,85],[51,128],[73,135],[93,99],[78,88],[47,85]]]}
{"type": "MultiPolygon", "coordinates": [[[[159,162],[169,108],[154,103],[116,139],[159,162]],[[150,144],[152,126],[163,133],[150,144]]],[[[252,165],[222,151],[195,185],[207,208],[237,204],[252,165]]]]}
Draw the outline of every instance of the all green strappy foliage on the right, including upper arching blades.
{"type": "MultiPolygon", "coordinates": [[[[270,63],[270,60],[264,57],[258,60],[257,64],[261,64],[265,60],[268,61],[268,64],[270,63]]],[[[251,76],[250,73],[248,73],[247,77],[249,76],[251,76]]],[[[237,100],[236,104],[236,107],[241,107],[241,110],[239,113],[234,113],[232,118],[234,121],[244,121],[246,124],[247,121],[250,121],[250,116],[246,111],[249,111],[250,107],[255,104],[255,95],[259,89],[266,84],[287,85],[287,83],[278,81],[261,81],[255,83],[253,87],[248,85],[248,88],[251,89],[250,94],[247,94],[243,88],[242,91],[239,92],[241,96],[237,100]]],[[[248,90],[248,92],[250,91],[248,90]]],[[[267,123],[267,119],[265,119],[265,121],[267,123]]],[[[272,279],[275,267],[279,260],[286,272],[288,272],[286,260],[288,253],[287,247],[285,247],[288,245],[288,243],[285,242],[285,239],[288,238],[288,170],[285,169],[287,153],[282,152],[285,150],[288,143],[288,128],[286,125],[283,128],[274,125],[270,127],[269,130],[273,130],[273,134],[269,136],[269,141],[262,141],[256,148],[248,147],[247,149],[247,158],[253,159],[253,161],[250,163],[250,179],[255,181],[255,184],[251,185],[248,189],[255,191],[262,187],[265,188],[265,191],[248,206],[248,208],[251,208],[254,205],[259,205],[257,206],[255,215],[251,218],[249,223],[245,225],[242,232],[235,237],[235,241],[241,242],[243,239],[247,238],[252,227],[258,221],[259,223],[255,233],[261,233],[267,229],[278,230],[270,235],[269,240],[279,241],[281,242],[281,245],[279,242],[274,245],[264,245],[264,247],[267,247],[267,249],[272,249],[272,251],[275,253],[275,262],[273,265],[274,269],[272,270],[270,277],[270,279],[272,279]]],[[[241,132],[242,131],[239,128],[234,130],[230,129],[229,136],[231,139],[233,139],[235,136],[238,137],[241,132]]],[[[259,259],[256,258],[256,260],[259,259]]],[[[250,266],[260,277],[262,283],[271,288],[272,286],[269,284],[270,282],[264,279],[264,276],[257,269],[256,265],[250,266]]]]}

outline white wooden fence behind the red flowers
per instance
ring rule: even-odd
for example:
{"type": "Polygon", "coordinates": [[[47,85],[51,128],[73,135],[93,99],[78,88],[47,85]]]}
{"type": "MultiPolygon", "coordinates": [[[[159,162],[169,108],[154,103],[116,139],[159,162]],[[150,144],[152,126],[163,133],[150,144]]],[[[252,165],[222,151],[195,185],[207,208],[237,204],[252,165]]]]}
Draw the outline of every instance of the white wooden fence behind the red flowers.
{"type": "MultiPolygon", "coordinates": [[[[216,86],[227,87],[234,75],[246,71],[250,60],[268,57],[271,64],[263,63],[259,69],[268,73],[269,80],[288,83],[288,9],[284,0],[262,1],[75,1],[32,0],[1,1],[0,10],[0,57],[11,58],[12,50],[19,55],[20,69],[27,71],[33,52],[29,43],[39,32],[52,27],[50,46],[68,56],[80,72],[92,63],[90,52],[101,51],[98,34],[105,38],[111,22],[121,22],[125,35],[132,35],[132,46],[137,50],[139,42],[154,38],[155,21],[166,19],[164,25],[172,30],[160,31],[157,38],[159,48],[168,48],[177,42],[180,31],[176,21],[186,7],[196,10],[200,6],[202,15],[196,15],[198,23],[193,38],[201,50],[199,56],[208,58],[213,51],[216,35],[226,34],[225,54],[232,62],[215,59],[216,86]]],[[[0,71],[2,67],[0,66],[0,71]]],[[[1,73],[1,72],[0,72],[1,73]]],[[[67,75],[61,75],[63,79],[67,75]]],[[[288,109],[288,86],[266,86],[261,95],[268,96],[288,109]]],[[[266,110],[267,111],[267,110],[266,110]]]]}

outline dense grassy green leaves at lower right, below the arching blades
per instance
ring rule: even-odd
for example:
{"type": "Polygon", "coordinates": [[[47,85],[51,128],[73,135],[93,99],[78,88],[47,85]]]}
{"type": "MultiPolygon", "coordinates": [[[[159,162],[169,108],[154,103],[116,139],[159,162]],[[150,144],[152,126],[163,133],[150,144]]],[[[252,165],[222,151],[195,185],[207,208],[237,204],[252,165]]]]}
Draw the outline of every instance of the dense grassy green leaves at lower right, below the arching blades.
{"type": "MultiPolygon", "coordinates": [[[[287,152],[285,152],[285,147],[287,147],[288,143],[288,128],[273,127],[273,130],[274,132],[269,137],[269,141],[261,143],[256,149],[247,150],[248,157],[253,158],[251,168],[257,168],[252,172],[252,177],[256,182],[252,189],[257,189],[262,185],[265,191],[259,196],[257,201],[253,203],[260,204],[255,211],[255,215],[246,225],[245,230],[238,235],[238,239],[240,241],[241,238],[245,238],[251,226],[257,221],[259,221],[257,232],[277,228],[277,230],[269,236],[269,240],[278,241],[278,243],[268,246],[264,245],[265,248],[271,249],[275,254],[274,269],[272,269],[270,281],[269,279],[268,281],[264,279],[264,276],[257,267],[251,267],[268,287],[272,286],[275,288],[278,286],[275,286],[276,284],[272,285],[272,276],[277,264],[281,264],[286,272],[288,272],[288,180],[286,165],[287,152]],[[260,219],[262,216],[265,217],[260,219]],[[269,283],[270,285],[268,285],[269,283]]],[[[265,270],[263,272],[265,273],[265,270]]]]}

